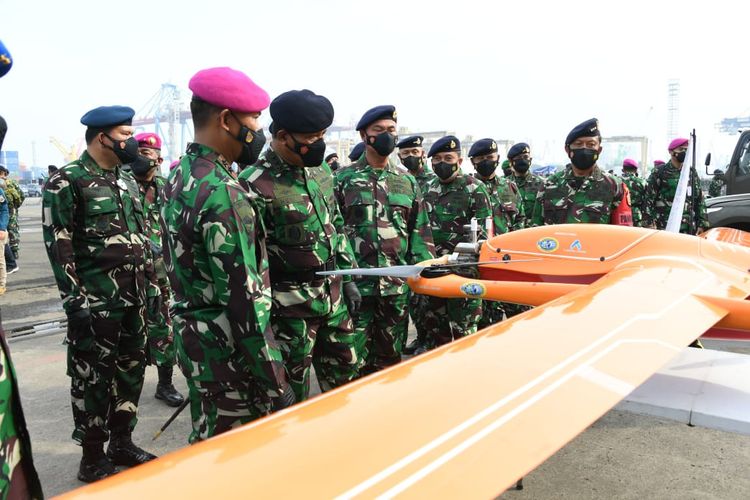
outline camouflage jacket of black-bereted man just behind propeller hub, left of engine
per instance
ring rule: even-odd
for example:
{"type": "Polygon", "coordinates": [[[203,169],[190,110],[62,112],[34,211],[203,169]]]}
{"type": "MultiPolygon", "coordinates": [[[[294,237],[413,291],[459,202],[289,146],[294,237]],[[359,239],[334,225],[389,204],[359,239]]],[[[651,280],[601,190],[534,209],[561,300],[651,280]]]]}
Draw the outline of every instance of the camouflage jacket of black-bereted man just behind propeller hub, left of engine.
{"type": "Polygon", "coordinates": [[[481,181],[469,175],[459,175],[444,184],[435,177],[424,196],[438,256],[453,253],[458,243],[469,241],[464,226],[471,224],[473,217],[479,224],[480,237],[487,236],[484,221],[492,217],[493,211],[490,194],[481,181]]]}

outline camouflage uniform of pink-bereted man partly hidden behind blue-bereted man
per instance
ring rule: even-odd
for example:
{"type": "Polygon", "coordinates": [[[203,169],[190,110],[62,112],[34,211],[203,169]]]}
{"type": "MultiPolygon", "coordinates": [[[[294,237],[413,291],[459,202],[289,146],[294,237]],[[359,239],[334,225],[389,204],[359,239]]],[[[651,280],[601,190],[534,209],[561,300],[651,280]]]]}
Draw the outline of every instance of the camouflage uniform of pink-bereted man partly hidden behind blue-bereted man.
{"type": "Polygon", "coordinates": [[[159,224],[159,213],[163,204],[160,193],[167,181],[157,175],[150,182],[140,180],[137,180],[137,182],[141,204],[149,225],[148,237],[151,241],[153,265],[158,285],[158,288],[149,289],[149,296],[161,295],[159,311],[149,311],[147,314],[146,359],[152,365],[171,367],[175,363],[174,335],[172,334],[172,320],[169,318],[169,301],[172,292],[169,289],[167,268],[164,265],[164,256],[162,255],[161,225],[159,224]]]}

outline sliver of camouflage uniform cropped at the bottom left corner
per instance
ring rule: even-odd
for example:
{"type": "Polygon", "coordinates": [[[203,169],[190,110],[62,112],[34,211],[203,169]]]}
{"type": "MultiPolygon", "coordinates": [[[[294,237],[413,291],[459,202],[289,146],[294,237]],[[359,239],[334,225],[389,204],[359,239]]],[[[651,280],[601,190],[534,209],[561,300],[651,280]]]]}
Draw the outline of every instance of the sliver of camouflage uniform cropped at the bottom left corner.
{"type": "Polygon", "coordinates": [[[31,456],[18,377],[0,326],[0,498],[41,499],[42,486],[31,456]]]}

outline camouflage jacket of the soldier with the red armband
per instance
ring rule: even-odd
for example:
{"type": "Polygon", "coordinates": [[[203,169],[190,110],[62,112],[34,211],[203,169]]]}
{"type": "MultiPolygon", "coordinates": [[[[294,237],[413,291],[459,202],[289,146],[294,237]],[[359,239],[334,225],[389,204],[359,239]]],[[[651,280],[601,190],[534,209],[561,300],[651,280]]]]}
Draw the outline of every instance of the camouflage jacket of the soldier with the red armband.
{"type": "Polygon", "coordinates": [[[573,167],[547,177],[536,195],[531,223],[570,224],[587,222],[609,224],[625,194],[622,182],[598,166],[591,175],[577,177],[573,167]]]}

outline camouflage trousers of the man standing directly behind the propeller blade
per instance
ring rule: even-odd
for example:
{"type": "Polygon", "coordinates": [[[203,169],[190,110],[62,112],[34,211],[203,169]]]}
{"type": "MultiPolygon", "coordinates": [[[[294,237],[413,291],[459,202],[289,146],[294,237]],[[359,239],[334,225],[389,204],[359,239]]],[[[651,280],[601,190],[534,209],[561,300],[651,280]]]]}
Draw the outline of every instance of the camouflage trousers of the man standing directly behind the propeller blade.
{"type": "Polygon", "coordinates": [[[363,374],[401,362],[409,327],[408,305],[408,293],[362,297],[362,306],[354,316],[354,330],[366,339],[363,374]]]}

